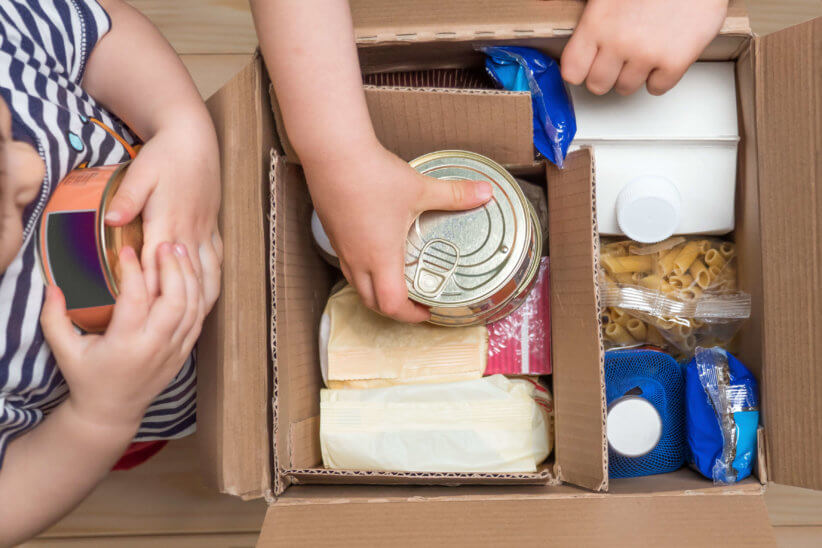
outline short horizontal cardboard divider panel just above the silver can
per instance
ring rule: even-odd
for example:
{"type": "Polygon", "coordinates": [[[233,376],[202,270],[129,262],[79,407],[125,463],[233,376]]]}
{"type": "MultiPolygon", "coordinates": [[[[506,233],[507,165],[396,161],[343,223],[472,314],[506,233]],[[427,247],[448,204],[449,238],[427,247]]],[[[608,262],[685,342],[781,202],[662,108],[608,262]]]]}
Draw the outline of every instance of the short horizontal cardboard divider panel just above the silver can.
{"type": "Polygon", "coordinates": [[[534,159],[529,93],[365,86],[365,99],[377,138],[403,160],[446,149],[534,159]]]}

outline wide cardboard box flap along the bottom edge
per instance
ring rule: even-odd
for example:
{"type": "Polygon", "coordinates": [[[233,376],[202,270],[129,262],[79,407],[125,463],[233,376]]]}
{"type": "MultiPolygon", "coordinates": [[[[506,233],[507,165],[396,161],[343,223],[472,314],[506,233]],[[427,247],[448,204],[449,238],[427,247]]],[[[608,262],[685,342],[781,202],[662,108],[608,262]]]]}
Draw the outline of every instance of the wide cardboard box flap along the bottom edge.
{"type": "MultiPolygon", "coordinates": [[[[289,491],[301,489],[292,487],[289,491]]],[[[446,488],[447,489],[447,488],[446,488]]],[[[758,492],[309,497],[269,506],[257,546],[775,546],[758,492]]]]}

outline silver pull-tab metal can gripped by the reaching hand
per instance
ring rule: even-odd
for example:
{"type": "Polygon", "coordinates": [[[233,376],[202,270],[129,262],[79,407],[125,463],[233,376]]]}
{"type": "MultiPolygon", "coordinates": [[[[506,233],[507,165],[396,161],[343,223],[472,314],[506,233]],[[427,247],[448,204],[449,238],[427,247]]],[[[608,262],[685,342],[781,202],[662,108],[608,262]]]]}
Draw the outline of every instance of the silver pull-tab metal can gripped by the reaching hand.
{"type": "Polygon", "coordinates": [[[409,297],[431,309],[431,323],[464,326],[516,310],[536,280],[542,231],[514,177],[493,160],[462,150],[432,152],[410,162],[429,177],[491,183],[493,195],[470,211],[427,211],[406,239],[409,297]]]}

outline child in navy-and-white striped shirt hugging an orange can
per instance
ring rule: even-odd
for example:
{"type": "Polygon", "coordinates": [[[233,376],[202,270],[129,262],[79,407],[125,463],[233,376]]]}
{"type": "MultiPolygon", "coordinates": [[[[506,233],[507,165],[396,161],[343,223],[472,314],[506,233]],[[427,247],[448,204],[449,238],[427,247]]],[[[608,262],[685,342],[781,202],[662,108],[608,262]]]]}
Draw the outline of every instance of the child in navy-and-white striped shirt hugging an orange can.
{"type": "Polygon", "coordinates": [[[220,286],[217,154],[179,58],[125,2],[0,2],[0,546],[194,430],[192,351],[220,286]],[[34,227],[69,171],[138,141],[106,222],[142,214],[142,257],[122,251],[111,323],[83,335],[43,284],[34,227]]]}

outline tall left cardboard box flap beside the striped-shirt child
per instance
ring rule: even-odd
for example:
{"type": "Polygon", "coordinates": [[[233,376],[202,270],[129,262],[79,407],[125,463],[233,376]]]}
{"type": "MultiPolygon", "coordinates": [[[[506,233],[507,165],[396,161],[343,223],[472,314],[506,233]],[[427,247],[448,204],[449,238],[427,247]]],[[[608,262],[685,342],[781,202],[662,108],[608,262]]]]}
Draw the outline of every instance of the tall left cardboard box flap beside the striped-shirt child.
{"type": "Polygon", "coordinates": [[[205,480],[243,498],[271,486],[268,341],[243,336],[267,333],[269,323],[265,217],[275,134],[266,91],[258,55],[207,102],[220,144],[225,259],[222,296],[199,343],[197,429],[205,480]]]}

